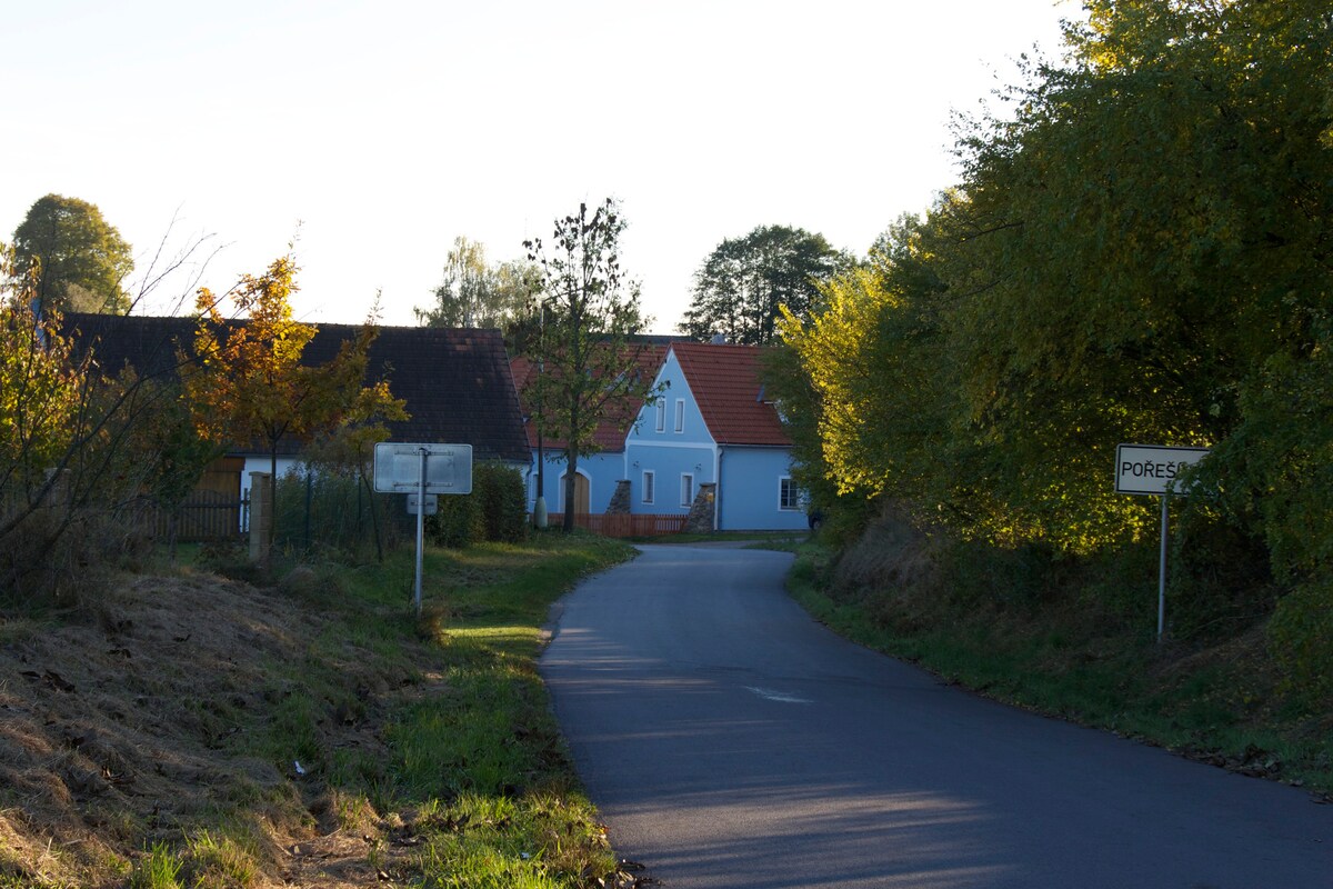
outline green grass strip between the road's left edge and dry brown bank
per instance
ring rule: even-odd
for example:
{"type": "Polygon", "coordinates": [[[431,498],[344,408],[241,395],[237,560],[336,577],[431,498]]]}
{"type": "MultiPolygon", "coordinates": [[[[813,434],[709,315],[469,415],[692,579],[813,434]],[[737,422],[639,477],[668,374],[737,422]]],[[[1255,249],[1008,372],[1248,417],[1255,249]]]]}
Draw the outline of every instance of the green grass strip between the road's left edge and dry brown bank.
{"type": "MultiPolygon", "coordinates": [[[[389,757],[355,749],[324,764],[344,826],[373,810],[388,830],[376,872],[427,886],[588,886],[616,860],[579,788],[536,670],[551,604],[591,572],[629,557],[591,536],[540,534],[521,545],[431,550],[416,633],[433,669],[383,726],[389,757]],[[391,862],[388,849],[411,849],[391,862]]],[[[360,634],[407,608],[412,553],[343,574],[360,634]],[[368,620],[368,617],[371,620],[368,620]]],[[[392,637],[393,618],[387,636],[392,637]]],[[[323,640],[336,648],[337,634],[323,640]]],[[[319,660],[319,658],[316,658],[319,660]]]]}

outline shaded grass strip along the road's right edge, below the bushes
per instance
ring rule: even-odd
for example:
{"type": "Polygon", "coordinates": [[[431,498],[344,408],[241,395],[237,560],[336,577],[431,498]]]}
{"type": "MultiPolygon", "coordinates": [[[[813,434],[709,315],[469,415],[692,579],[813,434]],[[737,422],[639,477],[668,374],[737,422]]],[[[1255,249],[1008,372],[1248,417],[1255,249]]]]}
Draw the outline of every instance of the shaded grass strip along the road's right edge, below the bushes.
{"type": "Polygon", "coordinates": [[[940,584],[940,573],[957,578],[976,566],[909,564],[922,562],[920,553],[890,565],[878,585],[834,582],[836,560],[818,544],[800,548],[789,588],[848,638],[997,700],[1289,781],[1321,800],[1333,792],[1333,714],[1282,689],[1261,626],[1216,644],[1158,645],[1146,594],[1142,620],[1120,622],[1102,620],[1086,590],[1014,601],[940,584]]]}

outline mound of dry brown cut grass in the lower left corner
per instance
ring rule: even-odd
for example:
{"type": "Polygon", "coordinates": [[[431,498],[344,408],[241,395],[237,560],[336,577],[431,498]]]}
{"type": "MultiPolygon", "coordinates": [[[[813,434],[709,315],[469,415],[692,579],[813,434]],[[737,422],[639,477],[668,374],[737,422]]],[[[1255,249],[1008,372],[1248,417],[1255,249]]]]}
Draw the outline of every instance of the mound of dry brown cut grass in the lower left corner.
{"type": "MultiPolygon", "coordinates": [[[[161,842],[207,846],[217,861],[193,873],[213,868],[215,885],[247,868],[252,886],[373,884],[368,848],[392,825],[236,737],[263,733],[299,682],[275,677],[300,676],[325,625],[211,574],[133,578],[59,621],[0,622],[0,882],[120,886],[161,842]],[[245,848],[200,845],[208,825],[245,848]]],[[[407,677],[363,654],[348,646],[345,670],[368,704],[321,717],[321,748],[383,750],[376,701],[407,677]]]]}

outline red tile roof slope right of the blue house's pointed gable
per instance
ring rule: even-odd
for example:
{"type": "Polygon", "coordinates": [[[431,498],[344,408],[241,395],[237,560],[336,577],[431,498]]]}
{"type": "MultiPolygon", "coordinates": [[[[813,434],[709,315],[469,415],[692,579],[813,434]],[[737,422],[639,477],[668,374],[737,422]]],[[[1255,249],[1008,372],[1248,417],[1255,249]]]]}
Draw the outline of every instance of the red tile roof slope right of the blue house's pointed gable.
{"type": "Polygon", "coordinates": [[[670,348],[717,444],[790,446],[777,409],[764,400],[764,349],[712,343],[673,343],[670,348]]]}

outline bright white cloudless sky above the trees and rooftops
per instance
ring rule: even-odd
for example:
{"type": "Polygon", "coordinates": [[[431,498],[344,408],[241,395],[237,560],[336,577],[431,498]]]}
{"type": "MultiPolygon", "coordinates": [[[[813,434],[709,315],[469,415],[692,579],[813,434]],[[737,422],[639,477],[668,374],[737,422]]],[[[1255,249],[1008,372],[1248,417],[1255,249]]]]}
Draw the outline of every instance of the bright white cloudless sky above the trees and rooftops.
{"type": "MultiPolygon", "coordinates": [[[[459,235],[492,261],[623,201],[621,263],[670,332],[757,225],[864,253],[956,181],[952,111],[1058,55],[1052,0],[0,0],[0,239],[43,195],[140,257],[224,245],[227,289],[297,235],[307,321],[413,324],[459,235]]],[[[137,313],[169,313],[189,281],[137,313]]],[[[192,300],[187,300],[189,308],[192,300]]]]}

